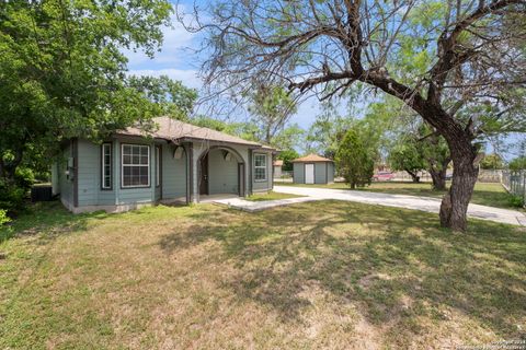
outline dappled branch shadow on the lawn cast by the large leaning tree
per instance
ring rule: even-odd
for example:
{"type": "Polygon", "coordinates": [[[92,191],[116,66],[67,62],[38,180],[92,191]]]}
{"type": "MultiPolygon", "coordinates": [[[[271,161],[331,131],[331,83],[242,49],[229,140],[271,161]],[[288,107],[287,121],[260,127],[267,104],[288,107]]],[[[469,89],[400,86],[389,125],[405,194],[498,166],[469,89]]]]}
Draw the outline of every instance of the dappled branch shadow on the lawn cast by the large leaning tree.
{"type": "Polygon", "coordinates": [[[518,228],[473,220],[468,233],[455,234],[433,214],[340,201],[197,217],[163,236],[162,249],[219,242],[237,268],[224,288],[284,320],[299,320],[312,283],[408,339],[420,317],[441,322],[454,312],[502,336],[516,335],[526,317],[526,235],[518,228]]]}

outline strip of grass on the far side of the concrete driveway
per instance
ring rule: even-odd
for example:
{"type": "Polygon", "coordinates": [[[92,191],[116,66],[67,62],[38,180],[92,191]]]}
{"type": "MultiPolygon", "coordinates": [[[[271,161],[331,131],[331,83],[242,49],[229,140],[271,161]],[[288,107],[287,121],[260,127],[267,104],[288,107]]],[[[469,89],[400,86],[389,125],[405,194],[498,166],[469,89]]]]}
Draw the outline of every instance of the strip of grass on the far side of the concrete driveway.
{"type": "MultiPolygon", "coordinates": [[[[305,184],[290,184],[282,183],[276,185],[283,186],[300,186],[300,187],[312,187],[315,185],[305,185],[305,184]]],[[[334,183],[328,185],[316,185],[316,187],[332,188],[332,189],[350,189],[347,184],[344,183],[334,183]]],[[[371,192],[384,192],[384,194],[396,194],[396,195],[409,195],[409,196],[423,196],[423,197],[435,197],[442,198],[444,191],[434,190],[430,183],[420,183],[413,184],[409,182],[385,182],[385,183],[371,183],[370,186],[358,188],[357,190],[365,190],[371,192]]],[[[510,195],[506,192],[504,187],[501,184],[489,184],[489,183],[477,183],[474,185],[473,196],[471,197],[471,202],[474,205],[490,206],[504,209],[515,209],[510,202],[510,195]]]]}

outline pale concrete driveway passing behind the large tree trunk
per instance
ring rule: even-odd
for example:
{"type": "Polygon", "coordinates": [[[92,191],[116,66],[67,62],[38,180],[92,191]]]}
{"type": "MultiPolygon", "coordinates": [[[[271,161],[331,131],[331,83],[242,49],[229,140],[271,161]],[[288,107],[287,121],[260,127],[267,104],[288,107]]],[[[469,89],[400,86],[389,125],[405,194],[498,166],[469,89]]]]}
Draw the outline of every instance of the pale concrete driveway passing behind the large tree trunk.
{"type": "MultiPolygon", "coordinates": [[[[329,189],[319,187],[293,187],[274,186],[274,191],[282,194],[291,194],[308,196],[320,199],[336,199],[357,201],[361,203],[379,205],[386,207],[397,207],[415,209],[438,213],[441,209],[441,199],[430,197],[416,197],[407,195],[389,195],[379,192],[369,192],[362,190],[329,189]]],[[[526,215],[516,210],[493,208],[479,205],[469,205],[468,215],[471,218],[490,220],[495,222],[508,223],[513,225],[526,225],[526,215]]]]}

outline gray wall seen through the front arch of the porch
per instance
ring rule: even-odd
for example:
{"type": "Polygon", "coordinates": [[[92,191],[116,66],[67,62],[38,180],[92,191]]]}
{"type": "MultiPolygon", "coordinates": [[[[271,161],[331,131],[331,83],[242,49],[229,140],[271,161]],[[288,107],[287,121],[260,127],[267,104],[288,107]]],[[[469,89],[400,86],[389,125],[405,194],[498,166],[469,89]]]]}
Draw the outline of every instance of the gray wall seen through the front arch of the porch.
{"type": "Polygon", "coordinates": [[[224,151],[208,153],[208,189],[210,195],[238,194],[238,161],[235,156],[225,160],[224,151]]]}

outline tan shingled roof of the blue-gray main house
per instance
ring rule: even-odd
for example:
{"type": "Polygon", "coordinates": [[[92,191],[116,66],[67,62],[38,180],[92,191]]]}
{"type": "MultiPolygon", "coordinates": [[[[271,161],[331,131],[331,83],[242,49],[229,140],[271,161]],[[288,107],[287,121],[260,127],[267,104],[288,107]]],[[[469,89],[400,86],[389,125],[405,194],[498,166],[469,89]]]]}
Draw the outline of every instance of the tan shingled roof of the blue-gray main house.
{"type": "Polygon", "coordinates": [[[175,120],[170,117],[153,118],[153,122],[158,126],[158,128],[153,129],[152,131],[145,131],[139,127],[129,127],[117,133],[129,135],[129,136],[141,136],[141,137],[151,136],[155,138],[172,140],[172,141],[182,140],[182,139],[207,140],[207,141],[217,141],[217,142],[226,142],[226,143],[245,144],[245,145],[252,145],[255,148],[274,150],[268,145],[264,145],[254,141],[247,141],[244,139],[241,139],[225,132],[183,122],[181,120],[175,120]]]}

